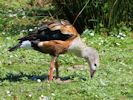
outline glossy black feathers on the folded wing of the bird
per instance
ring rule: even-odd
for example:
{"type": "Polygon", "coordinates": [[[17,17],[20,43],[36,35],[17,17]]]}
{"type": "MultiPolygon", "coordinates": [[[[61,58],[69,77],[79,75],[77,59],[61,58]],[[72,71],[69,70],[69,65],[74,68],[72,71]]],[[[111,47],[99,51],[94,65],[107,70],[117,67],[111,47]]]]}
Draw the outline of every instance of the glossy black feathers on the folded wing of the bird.
{"type": "Polygon", "coordinates": [[[71,34],[62,34],[60,30],[51,31],[48,27],[41,26],[37,30],[31,32],[27,36],[20,38],[20,42],[25,40],[39,40],[39,41],[49,41],[49,40],[62,40],[65,41],[72,37],[71,34]]]}

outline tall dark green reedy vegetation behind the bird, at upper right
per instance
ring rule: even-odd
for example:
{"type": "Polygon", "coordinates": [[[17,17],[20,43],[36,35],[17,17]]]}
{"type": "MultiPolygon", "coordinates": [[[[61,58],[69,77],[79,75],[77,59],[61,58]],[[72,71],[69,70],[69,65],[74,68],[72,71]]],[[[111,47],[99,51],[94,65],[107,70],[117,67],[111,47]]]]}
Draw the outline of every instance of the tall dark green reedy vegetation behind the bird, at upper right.
{"type": "Polygon", "coordinates": [[[110,31],[122,21],[128,26],[133,23],[132,0],[53,0],[53,4],[60,18],[74,22],[79,33],[86,27],[97,30],[104,27],[110,31]]]}

